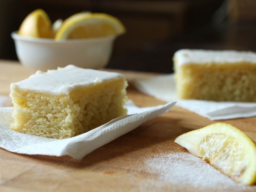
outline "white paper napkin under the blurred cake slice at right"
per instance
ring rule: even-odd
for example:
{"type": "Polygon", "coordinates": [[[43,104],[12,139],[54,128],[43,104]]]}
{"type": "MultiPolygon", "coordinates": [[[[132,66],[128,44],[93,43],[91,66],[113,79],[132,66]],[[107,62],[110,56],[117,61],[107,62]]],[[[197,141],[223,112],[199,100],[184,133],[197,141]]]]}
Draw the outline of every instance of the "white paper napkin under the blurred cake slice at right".
{"type": "Polygon", "coordinates": [[[133,81],[141,92],[163,101],[177,101],[178,106],[195,112],[210,120],[223,120],[256,115],[256,103],[252,102],[215,102],[204,100],[178,100],[175,92],[174,75],[161,75],[133,81]]]}

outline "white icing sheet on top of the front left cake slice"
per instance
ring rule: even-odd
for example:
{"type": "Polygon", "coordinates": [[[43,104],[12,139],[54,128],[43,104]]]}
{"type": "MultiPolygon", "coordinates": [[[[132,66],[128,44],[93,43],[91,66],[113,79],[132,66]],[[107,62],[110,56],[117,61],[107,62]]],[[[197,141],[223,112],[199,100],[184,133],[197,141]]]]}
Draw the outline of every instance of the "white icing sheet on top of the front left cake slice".
{"type": "Polygon", "coordinates": [[[11,86],[18,86],[19,90],[40,92],[51,95],[68,95],[77,88],[93,86],[96,83],[123,79],[124,76],[114,72],[83,69],[74,65],[68,65],[57,70],[47,72],[37,71],[29,78],[11,86]]]}

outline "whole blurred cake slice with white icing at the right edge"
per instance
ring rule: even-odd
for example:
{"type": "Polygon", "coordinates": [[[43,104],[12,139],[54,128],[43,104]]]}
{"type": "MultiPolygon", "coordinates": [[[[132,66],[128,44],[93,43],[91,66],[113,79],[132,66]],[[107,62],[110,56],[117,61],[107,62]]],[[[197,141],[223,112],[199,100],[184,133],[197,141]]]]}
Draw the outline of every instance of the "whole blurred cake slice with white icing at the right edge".
{"type": "Polygon", "coordinates": [[[256,101],[256,54],[181,49],[174,54],[180,99],[256,101]]]}

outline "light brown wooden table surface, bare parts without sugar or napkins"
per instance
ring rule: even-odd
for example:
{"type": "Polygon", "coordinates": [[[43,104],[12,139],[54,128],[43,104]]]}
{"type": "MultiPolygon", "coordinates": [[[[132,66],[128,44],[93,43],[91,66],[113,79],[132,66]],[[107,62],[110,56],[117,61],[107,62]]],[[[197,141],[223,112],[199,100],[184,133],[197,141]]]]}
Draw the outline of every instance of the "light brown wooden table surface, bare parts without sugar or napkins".
{"type": "MultiPolygon", "coordinates": [[[[120,72],[129,81],[155,75],[120,72]]],[[[0,60],[0,95],[9,94],[11,82],[33,73],[15,61],[0,60]]],[[[127,94],[138,106],[165,103],[138,92],[131,84],[127,94]]],[[[256,132],[256,117],[219,122],[230,123],[242,131],[256,132]]],[[[68,156],[21,155],[0,148],[0,191],[204,191],[162,181],[138,165],[144,157],[153,157],[159,151],[188,153],[174,143],[174,139],[211,123],[213,121],[207,118],[174,106],[169,112],[94,150],[82,160],[68,156]]],[[[249,191],[256,191],[255,186],[249,191]]]]}

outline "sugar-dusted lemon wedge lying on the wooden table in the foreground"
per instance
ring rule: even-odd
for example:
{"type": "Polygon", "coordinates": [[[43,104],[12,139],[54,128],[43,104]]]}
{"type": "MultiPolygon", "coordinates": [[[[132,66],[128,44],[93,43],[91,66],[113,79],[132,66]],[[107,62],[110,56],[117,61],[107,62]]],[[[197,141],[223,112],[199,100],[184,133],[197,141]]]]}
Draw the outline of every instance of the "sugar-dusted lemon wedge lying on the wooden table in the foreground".
{"type": "Polygon", "coordinates": [[[248,185],[256,182],[256,144],[230,124],[208,125],[178,136],[175,143],[236,182],[248,185]]]}

